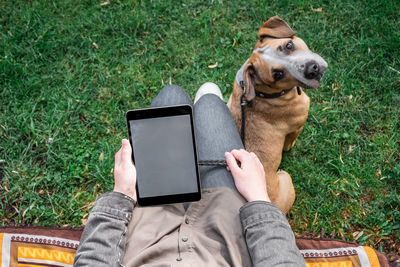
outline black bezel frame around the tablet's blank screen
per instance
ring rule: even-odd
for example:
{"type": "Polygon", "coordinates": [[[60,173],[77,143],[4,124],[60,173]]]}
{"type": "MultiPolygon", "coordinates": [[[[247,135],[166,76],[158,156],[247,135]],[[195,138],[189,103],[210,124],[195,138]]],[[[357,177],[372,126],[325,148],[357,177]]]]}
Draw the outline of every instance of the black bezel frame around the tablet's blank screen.
{"type": "MultiPolygon", "coordinates": [[[[162,117],[173,117],[179,115],[189,115],[190,116],[190,126],[192,130],[192,144],[194,151],[194,159],[195,159],[195,168],[196,168],[196,178],[197,178],[197,192],[194,193],[183,193],[183,194],[174,194],[174,195],[163,195],[163,196],[153,196],[153,197],[141,197],[138,187],[138,180],[140,177],[137,177],[136,180],[136,195],[137,202],[139,206],[155,206],[162,204],[171,204],[171,203],[182,203],[182,202],[193,202],[201,199],[201,187],[200,187],[200,175],[199,175],[199,167],[198,167],[198,157],[197,157],[197,148],[196,148],[196,138],[194,132],[194,123],[193,123],[193,109],[190,105],[174,105],[174,106],[164,106],[164,107],[155,107],[155,108],[143,108],[143,109],[135,109],[129,110],[126,112],[126,123],[129,133],[129,143],[132,144],[132,133],[129,121],[132,120],[141,120],[141,119],[150,119],[150,118],[162,118],[162,117]]],[[[132,161],[135,162],[134,156],[134,148],[132,149],[132,161]]]]}

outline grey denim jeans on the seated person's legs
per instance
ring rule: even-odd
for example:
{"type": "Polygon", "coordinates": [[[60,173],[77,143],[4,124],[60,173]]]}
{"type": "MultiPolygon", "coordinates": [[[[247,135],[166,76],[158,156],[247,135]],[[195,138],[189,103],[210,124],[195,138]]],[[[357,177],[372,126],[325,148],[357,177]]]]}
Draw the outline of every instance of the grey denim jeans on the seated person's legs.
{"type": "MultiPolygon", "coordinates": [[[[179,86],[165,86],[151,106],[161,107],[193,102],[179,86]]],[[[199,160],[224,160],[225,152],[243,148],[231,112],[216,95],[203,95],[193,108],[199,160]]],[[[221,166],[200,166],[201,188],[229,187],[237,191],[232,174],[221,166]]]]}

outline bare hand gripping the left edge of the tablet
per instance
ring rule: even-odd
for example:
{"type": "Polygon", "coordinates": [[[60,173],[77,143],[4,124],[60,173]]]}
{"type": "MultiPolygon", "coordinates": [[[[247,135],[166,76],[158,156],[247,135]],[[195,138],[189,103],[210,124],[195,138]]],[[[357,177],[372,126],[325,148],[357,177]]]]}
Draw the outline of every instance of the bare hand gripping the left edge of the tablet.
{"type": "Polygon", "coordinates": [[[132,147],[122,139],[122,147],[115,154],[114,192],[120,192],[136,201],[136,168],[132,162],[132,147]]]}

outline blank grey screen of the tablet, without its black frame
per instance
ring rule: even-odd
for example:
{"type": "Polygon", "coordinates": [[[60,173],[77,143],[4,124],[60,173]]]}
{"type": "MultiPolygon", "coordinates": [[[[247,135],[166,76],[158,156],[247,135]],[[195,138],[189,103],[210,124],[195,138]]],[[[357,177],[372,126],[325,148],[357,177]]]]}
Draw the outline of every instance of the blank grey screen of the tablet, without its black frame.
{"type": "Polygon", "coordinates": [[[129,121],[141,198],[197,192],[190,115],[129,121]]]}

